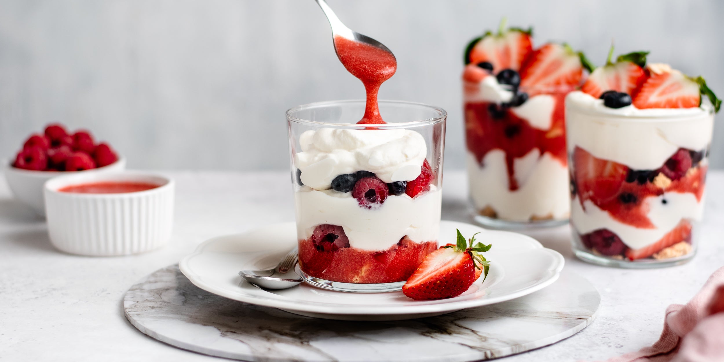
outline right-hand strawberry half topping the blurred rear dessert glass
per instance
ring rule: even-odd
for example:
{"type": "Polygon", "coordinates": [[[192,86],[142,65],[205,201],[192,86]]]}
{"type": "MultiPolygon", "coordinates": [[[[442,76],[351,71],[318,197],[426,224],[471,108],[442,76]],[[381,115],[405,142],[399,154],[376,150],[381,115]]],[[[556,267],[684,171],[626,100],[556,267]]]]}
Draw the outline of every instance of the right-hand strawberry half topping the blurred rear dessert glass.
{"type": "Polygon", "coordinates": [[[521,65],[521,87],[578,85],[583,70],[581,54],[565,44],[547,43],[521,65]]]}

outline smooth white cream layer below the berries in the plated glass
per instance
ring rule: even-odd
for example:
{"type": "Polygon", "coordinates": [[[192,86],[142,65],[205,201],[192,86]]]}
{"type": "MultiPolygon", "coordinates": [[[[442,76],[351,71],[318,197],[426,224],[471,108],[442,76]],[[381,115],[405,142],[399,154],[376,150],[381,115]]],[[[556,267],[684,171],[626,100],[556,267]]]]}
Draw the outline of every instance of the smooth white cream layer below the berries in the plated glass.
{"type": "Polygon", "coordinates": [[[442,191],[434,185],[416,198],[390,195],[375,209],[360,207],[350,193],[334,190],[305,187],[294,197],[300,239],[311,237],[319,224],[333,224],[345,229],[351,247],[369,251],[386,250],[405,235],[416,243],[437,241],[442,191]]]}

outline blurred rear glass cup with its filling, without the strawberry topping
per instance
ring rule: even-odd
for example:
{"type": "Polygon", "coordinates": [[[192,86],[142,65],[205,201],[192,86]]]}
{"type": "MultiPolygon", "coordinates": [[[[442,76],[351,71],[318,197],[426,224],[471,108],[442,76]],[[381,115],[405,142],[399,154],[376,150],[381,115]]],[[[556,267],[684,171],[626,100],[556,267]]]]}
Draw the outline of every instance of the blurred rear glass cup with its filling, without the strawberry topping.
{"type": "Polygon", "coordinates": [[[503,229],[567,223],[564,100],[573,87],[521,87],[529,98],[513,106],[486,82],[463,83],[473,219],[503,229]]]}

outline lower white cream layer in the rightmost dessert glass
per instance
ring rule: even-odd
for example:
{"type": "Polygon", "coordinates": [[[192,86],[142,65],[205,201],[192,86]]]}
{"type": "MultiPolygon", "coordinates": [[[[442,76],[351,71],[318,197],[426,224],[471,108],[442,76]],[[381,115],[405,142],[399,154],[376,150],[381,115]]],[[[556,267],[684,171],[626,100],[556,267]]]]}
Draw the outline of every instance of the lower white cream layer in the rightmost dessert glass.
{"type": "Polygon", "coordinates": [[[584,206],[581,206],[581,201],[576,196],[571,202],[571,224],[581,235],[599,229],[608,229],[618,235],[629,248],[640,249],[656,243],[673,230],[681,219],[700,222],[704,212],[702,201],[696,201],[693,193],[664,193],[660,196],[650,196],[644,203],[649,208],[647,216],[655,228],[642,229],[616,221],[607,211],[599,209],[588,200],[584,201],[584,210],[584,206]]]}

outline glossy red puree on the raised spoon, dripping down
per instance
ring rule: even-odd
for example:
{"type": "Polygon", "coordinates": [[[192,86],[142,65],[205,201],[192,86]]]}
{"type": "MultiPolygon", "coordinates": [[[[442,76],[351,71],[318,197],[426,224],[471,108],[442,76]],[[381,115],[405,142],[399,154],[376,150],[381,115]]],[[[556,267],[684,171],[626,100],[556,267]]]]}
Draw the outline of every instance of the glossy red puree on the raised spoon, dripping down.
{"type": "Polygon", "coordinates": [[[397,59],[387,51],[366,43],[334,36],[334,48],[340,62],[364,84],[367,104],[364,116],[359,124],[385,123],[379,115],[377,92],[385,80],[390,79],[397,70],[397,59]]]}

